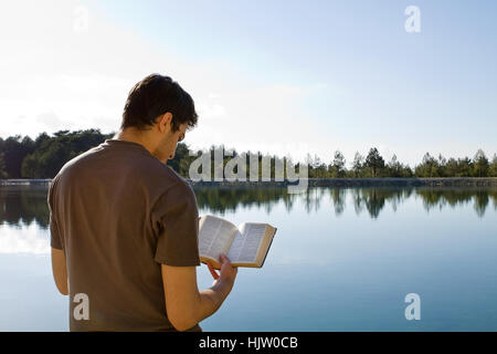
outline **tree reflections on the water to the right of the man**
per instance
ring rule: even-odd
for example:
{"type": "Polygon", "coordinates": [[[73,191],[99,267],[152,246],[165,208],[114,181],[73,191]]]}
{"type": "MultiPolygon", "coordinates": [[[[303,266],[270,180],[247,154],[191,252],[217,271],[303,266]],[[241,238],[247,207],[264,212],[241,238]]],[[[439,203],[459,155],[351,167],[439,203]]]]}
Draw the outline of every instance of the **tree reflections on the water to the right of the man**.
{"type": "Polygon", "coordinates": [[[364,210],[372,219],[380,216],[381,210],[389,204],[393,211],[411,197],[421,198],[426,211],[433,208],[442,209],[446,206],[472,204],[479,217],[493,200],[497,210],[497,189],[466,189],[466,188],[309,188],[304,194],[292,195],[285,188],[195,188],[199,208],[213,214],[236,211],[239,207],[257,206],[269,214],[278,202],[285,205],[289,212],[294,204],[303,202],[307,214],[316,212],[328,198],[334,206],[334,212],[340,216],[347,204],[350,204],[359,216],[364,210]]]}

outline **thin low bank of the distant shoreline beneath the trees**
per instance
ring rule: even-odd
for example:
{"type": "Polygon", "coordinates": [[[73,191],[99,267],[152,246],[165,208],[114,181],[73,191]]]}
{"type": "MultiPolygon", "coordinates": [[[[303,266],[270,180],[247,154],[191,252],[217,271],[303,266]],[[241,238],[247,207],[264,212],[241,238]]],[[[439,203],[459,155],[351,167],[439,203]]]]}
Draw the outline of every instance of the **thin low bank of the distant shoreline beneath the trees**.
{"type": "MultiPolygon", "coordinates": [[[[1,179],[1,186],[49,185],[52,179],[1,179]]],[[[192,181],[198,187],[287,187],[284,181],[192,181]]],[[[434,177],[434,178],[309,178],[309,187],[497,187],[497,177],[434,177]]]]}

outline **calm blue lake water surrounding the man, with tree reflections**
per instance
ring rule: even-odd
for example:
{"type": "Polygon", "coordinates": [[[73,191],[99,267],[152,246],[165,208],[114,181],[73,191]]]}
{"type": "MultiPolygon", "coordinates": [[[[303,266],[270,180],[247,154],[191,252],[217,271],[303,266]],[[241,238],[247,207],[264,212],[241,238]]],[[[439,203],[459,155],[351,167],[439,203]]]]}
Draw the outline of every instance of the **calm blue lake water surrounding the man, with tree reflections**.
{"type": "MultiPolygon", "coordinates": [[[[0,331],[67,331],[46,191],[0,187],[0,331]]],[[[264,268],[239,270],[205,331],[497,331],[496,189],[195,192],[201,215],[278,228],[264,268]],[[409,293],[419,321],[405,319],[409,293]]]]}

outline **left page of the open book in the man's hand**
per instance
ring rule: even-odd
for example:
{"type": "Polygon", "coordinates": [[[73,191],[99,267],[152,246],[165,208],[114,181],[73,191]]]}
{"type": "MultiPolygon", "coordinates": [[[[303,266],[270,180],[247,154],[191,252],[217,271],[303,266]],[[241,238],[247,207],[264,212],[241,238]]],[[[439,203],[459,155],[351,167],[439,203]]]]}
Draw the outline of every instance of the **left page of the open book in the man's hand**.
{"type": "Polygon", "coordinates": [[[228,220],[210,215],[202,217],[199,225],[200,256],[218,261],[221,253],[229,252],[236,232],[236,226],[228,220]]]}

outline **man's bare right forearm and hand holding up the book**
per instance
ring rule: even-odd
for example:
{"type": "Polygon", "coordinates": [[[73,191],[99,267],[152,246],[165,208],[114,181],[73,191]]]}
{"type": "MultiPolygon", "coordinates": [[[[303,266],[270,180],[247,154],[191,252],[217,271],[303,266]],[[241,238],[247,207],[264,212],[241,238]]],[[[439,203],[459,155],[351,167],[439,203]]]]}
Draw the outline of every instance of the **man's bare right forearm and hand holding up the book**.
{"type": "Polygon", "coordinates": [[[211,288],[199,291],[195,267],[161,264],[169,321],[178,331],[186,331],[212,315],[224,302],[236,278],[237,269],[226,257],[221,258],[221,273],[211,288]]]}

